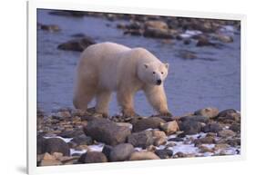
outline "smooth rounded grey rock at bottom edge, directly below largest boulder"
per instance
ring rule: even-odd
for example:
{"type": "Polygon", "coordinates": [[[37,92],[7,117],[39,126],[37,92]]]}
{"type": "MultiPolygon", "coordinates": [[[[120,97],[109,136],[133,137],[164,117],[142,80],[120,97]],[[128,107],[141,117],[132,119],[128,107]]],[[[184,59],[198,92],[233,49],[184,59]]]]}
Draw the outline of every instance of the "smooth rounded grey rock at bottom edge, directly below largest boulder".
{"type": "Polygon", "coordinates": [[[130,143],[121,143],[113,148],[109,157],[111,161],[124,161],[128,160],[133,151],[134,147],[130,143]]]}

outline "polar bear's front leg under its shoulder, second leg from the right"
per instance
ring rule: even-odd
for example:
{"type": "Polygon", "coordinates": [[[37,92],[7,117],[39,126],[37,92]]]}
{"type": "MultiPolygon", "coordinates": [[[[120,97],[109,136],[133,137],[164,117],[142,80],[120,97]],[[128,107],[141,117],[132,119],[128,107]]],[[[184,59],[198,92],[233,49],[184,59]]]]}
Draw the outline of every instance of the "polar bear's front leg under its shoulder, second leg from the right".
{"type": "Polygon", "coordinates": [[[133,95],[134,92],[128,90],[119,90],[117,92],[118,103],[122,108],[122,113],[125,117],[135,117],[138,114],[134,111],[133,107],[133,95]]]}

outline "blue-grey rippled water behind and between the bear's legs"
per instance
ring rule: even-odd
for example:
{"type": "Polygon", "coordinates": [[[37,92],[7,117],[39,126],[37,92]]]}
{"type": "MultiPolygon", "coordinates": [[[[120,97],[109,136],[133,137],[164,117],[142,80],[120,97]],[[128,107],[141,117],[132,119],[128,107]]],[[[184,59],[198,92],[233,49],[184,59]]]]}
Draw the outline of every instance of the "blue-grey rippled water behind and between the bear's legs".
{"type": "MultiPolygon", "coordinates": [[[[194,44],[163,44],[162,40],[142,36],[124,35],[116,28],[118,22],[96,17],[68,17],[48,15],[47,10],[38,10],[37,21],[42,24],[57,24],[59,33],[37,31],[37,104],[46,112],[62,107],[73,107],[73,86],[78,52],[57,50],[58,44],[72,39],[72,34],[83,33],[97,43],[114,42],[130,47],[145,47],[163,63],[170,64],[165,83],[169,110],[174,115],[194,112],[214,106],[220,110],[241,110],[241,38],[233,36],[234,42],[221,48],[196,47],[194,44]],[[107,26],[110,24],[110,26],[107,26]],[[198,59],[184,60],[179,52],[189,50],[198,59]]],[[[94,105],[94,102],[90,104],[94,105]]],[[[135,97],[135,109],[141,115],[151,115],[153,110],[143,92],[135,97]]],[[[115,95],[109,106],[110,114],[118,113],[115,95]]]]}

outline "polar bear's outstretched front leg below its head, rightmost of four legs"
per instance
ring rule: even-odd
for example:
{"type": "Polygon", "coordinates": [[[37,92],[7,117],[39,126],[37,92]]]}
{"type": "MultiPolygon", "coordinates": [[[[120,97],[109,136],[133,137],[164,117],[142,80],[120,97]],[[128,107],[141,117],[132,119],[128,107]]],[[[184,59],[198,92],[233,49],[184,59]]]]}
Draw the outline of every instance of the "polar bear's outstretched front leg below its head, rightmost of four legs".
{"type": "Polygon", "coordinates": [[[163,85],[148,85],[144,91],[148,102],[160,115],[172,116],[168,109],[168,102],[163,85]]]}

